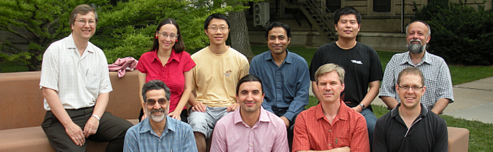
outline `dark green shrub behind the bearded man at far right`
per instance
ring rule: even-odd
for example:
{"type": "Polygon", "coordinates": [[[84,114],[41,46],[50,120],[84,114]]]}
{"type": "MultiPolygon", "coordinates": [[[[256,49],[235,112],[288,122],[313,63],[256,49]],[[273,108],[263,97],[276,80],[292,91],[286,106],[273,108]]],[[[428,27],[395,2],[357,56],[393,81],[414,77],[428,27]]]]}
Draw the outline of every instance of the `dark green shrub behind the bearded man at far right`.
{"type": "MultiPolygon", "coordinates": [[[[415,6],[416,7],[416,6],[415,6]]],[[[416,20],[429,23],[429,51],[448,63],[493,64],[493,11],[477,9],[462,1],[430,1],[416,12],[416,20]]]]}

